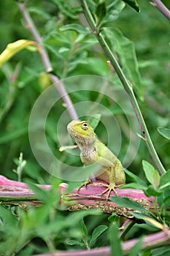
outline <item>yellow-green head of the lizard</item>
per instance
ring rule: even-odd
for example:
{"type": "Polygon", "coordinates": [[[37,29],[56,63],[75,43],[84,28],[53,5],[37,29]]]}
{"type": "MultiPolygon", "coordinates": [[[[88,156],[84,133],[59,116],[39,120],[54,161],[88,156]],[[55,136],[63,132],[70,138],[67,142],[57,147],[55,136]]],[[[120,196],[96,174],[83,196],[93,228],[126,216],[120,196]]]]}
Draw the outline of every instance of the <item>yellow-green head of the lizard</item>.
{"type": "Polygon", "coordinates": [[[67,130],[76,143],[80,138],[90,139],[91,141],[96,140],[96,134],[88,124],[88,121],[71,121],[67,126],[67,130]]]}

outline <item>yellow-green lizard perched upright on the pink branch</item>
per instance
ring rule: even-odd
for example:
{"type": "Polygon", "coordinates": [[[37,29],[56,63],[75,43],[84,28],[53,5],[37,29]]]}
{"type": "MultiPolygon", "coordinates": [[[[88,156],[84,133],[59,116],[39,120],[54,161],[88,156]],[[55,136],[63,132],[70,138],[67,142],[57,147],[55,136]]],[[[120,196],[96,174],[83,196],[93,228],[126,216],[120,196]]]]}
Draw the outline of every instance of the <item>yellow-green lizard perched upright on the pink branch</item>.
{"type": "MultiPolygon", "coordinates": [[[[98,140],[96,133],[87,121],[71,121],[67,129],[71,138],[80,148],[82,163],[90,165],[98,162],[101,165],[101,170],[95,176],[96,179],[107,182],[104,184],[107,189],[102,194],[108,192],[107,200],[112,190],[117,195],[115,187],[125,184],[125,173],[120,160],[104,143],[98,140]]],[[[90,179],[85,184],[89,183],[90,179]]]]}

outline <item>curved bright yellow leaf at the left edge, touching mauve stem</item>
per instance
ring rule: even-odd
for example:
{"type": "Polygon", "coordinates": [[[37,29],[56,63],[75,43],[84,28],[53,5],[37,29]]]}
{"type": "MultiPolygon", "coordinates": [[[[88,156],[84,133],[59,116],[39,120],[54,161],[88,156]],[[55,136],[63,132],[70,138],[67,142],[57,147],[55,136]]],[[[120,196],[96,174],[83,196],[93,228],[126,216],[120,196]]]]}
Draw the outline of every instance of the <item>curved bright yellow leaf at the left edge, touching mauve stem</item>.
{"type": "Polygon", "coordinates": [[[24,48],[28,48],[29,45],[35,45],[34,41],[29,41],[26,39],[20,39],[16,42],[12,42],[7,45],[7,48],[0,55],[0,67],[12,58],[16,53],[24,48]]]}

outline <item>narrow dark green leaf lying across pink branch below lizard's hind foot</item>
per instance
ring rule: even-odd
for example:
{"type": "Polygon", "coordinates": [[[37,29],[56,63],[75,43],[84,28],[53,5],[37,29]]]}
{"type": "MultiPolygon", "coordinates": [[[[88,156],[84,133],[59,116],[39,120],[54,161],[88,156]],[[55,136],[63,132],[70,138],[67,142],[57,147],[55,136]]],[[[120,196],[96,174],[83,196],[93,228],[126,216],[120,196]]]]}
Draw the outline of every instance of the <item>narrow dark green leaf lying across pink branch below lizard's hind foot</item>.
{"type": "Polygon", "coordinates": [[[111,198],[112,202],[116,203],[119,206],[133,209],[135,211],[142,211],[145,213],[150,212],[146,208],[141,206],[139,203],[134,202],[134,201],[128,199],[127,197],[110,197],[110,198],[111,198]]]}

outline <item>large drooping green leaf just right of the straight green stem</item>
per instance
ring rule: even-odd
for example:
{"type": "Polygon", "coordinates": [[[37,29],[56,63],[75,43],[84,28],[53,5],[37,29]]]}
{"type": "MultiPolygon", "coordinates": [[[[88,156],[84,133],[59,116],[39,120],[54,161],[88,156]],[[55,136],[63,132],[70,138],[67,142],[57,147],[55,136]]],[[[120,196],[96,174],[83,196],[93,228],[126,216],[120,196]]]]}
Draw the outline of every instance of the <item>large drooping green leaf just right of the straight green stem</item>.
{"type": "Polygon", "coordinates": [[[124,37],[122,32],[117,28],[104,28],[104,31],[109,39],[109,44],[112,45],[112,49],[119,57],[119,62],[123,67],[125,76],[128,78],[131,85],[134,86],[136,94],[143,100],[142,79],[139,73],[134,42],[124,37]]]}

